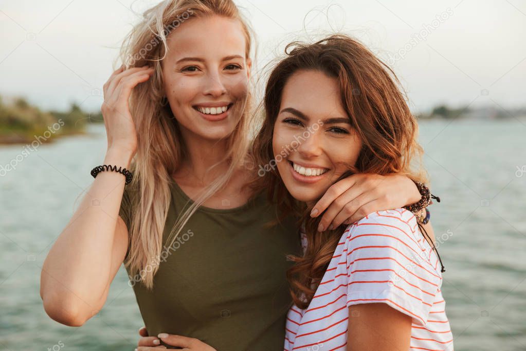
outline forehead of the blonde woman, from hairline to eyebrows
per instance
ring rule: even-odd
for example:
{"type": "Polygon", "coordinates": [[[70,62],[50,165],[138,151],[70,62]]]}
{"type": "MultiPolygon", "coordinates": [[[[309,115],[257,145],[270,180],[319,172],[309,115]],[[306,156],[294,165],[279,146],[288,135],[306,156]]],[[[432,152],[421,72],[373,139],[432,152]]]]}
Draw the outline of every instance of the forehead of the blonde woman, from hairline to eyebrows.
{"type": "Polygon", "coordinates": [[[209,16],[190,18],[168,35],[166,59],[214,55],[245,57],[246,38],[237,19],[209,16]]]}

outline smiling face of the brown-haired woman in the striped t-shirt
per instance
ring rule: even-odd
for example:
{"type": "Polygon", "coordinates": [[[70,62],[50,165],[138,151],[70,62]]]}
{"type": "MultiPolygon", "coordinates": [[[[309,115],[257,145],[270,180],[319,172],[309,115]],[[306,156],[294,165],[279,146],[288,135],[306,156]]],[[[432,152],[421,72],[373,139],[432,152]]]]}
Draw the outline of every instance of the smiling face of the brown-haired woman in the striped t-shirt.
{"type": "Polygon", "coordinates": [[[337,78],[297,71],[285,84],[272,149],[292,197],[320,198],[358,159],[362,142],[340,101],[337,78]],[[279,162],[278,162],[279,161],[279,162]]]}

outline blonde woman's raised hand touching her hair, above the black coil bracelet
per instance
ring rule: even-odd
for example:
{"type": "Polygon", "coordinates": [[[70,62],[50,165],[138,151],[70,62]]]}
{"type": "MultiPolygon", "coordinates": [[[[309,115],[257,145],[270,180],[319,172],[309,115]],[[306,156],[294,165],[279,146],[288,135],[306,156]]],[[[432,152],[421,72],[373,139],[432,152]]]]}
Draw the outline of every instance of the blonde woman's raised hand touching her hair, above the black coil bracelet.
{"type": "Polygon", "coordinates": [[[100,110],[106,126],[108,149],[125,149],[135,154],[137,132],[130,113],[129,97],[133,88],[146,82],[153,72],[148,66],[125,69],[123,65],[104,84],[104,102],[100,110]]]}

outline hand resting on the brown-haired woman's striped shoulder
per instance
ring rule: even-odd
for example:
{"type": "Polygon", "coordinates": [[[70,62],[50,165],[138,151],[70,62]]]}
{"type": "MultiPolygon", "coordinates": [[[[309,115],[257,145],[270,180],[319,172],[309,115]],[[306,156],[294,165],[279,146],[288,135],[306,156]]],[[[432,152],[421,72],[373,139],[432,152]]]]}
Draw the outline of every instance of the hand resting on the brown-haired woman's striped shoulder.
{"type": "Polygon", "coordinates": [[[403,175],[353,174],[333,184],[312,208],[311,216],[323,211],[318,231],[355,223],[370,213],[416,203],[421,195],[403,175]]]}

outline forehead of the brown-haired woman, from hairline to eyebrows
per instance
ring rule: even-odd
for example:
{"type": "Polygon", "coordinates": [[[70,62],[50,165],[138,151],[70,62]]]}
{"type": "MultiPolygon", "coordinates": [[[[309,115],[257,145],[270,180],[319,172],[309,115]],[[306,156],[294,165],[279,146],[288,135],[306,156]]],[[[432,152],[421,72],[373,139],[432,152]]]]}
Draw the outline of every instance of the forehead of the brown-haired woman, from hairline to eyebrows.
{"type": "Polygon", "coordinates": [[[298,71],[285,84],[281,108],[294,107],[310,117],[346,115],[338,80],[320,71],[298,71]]]}

